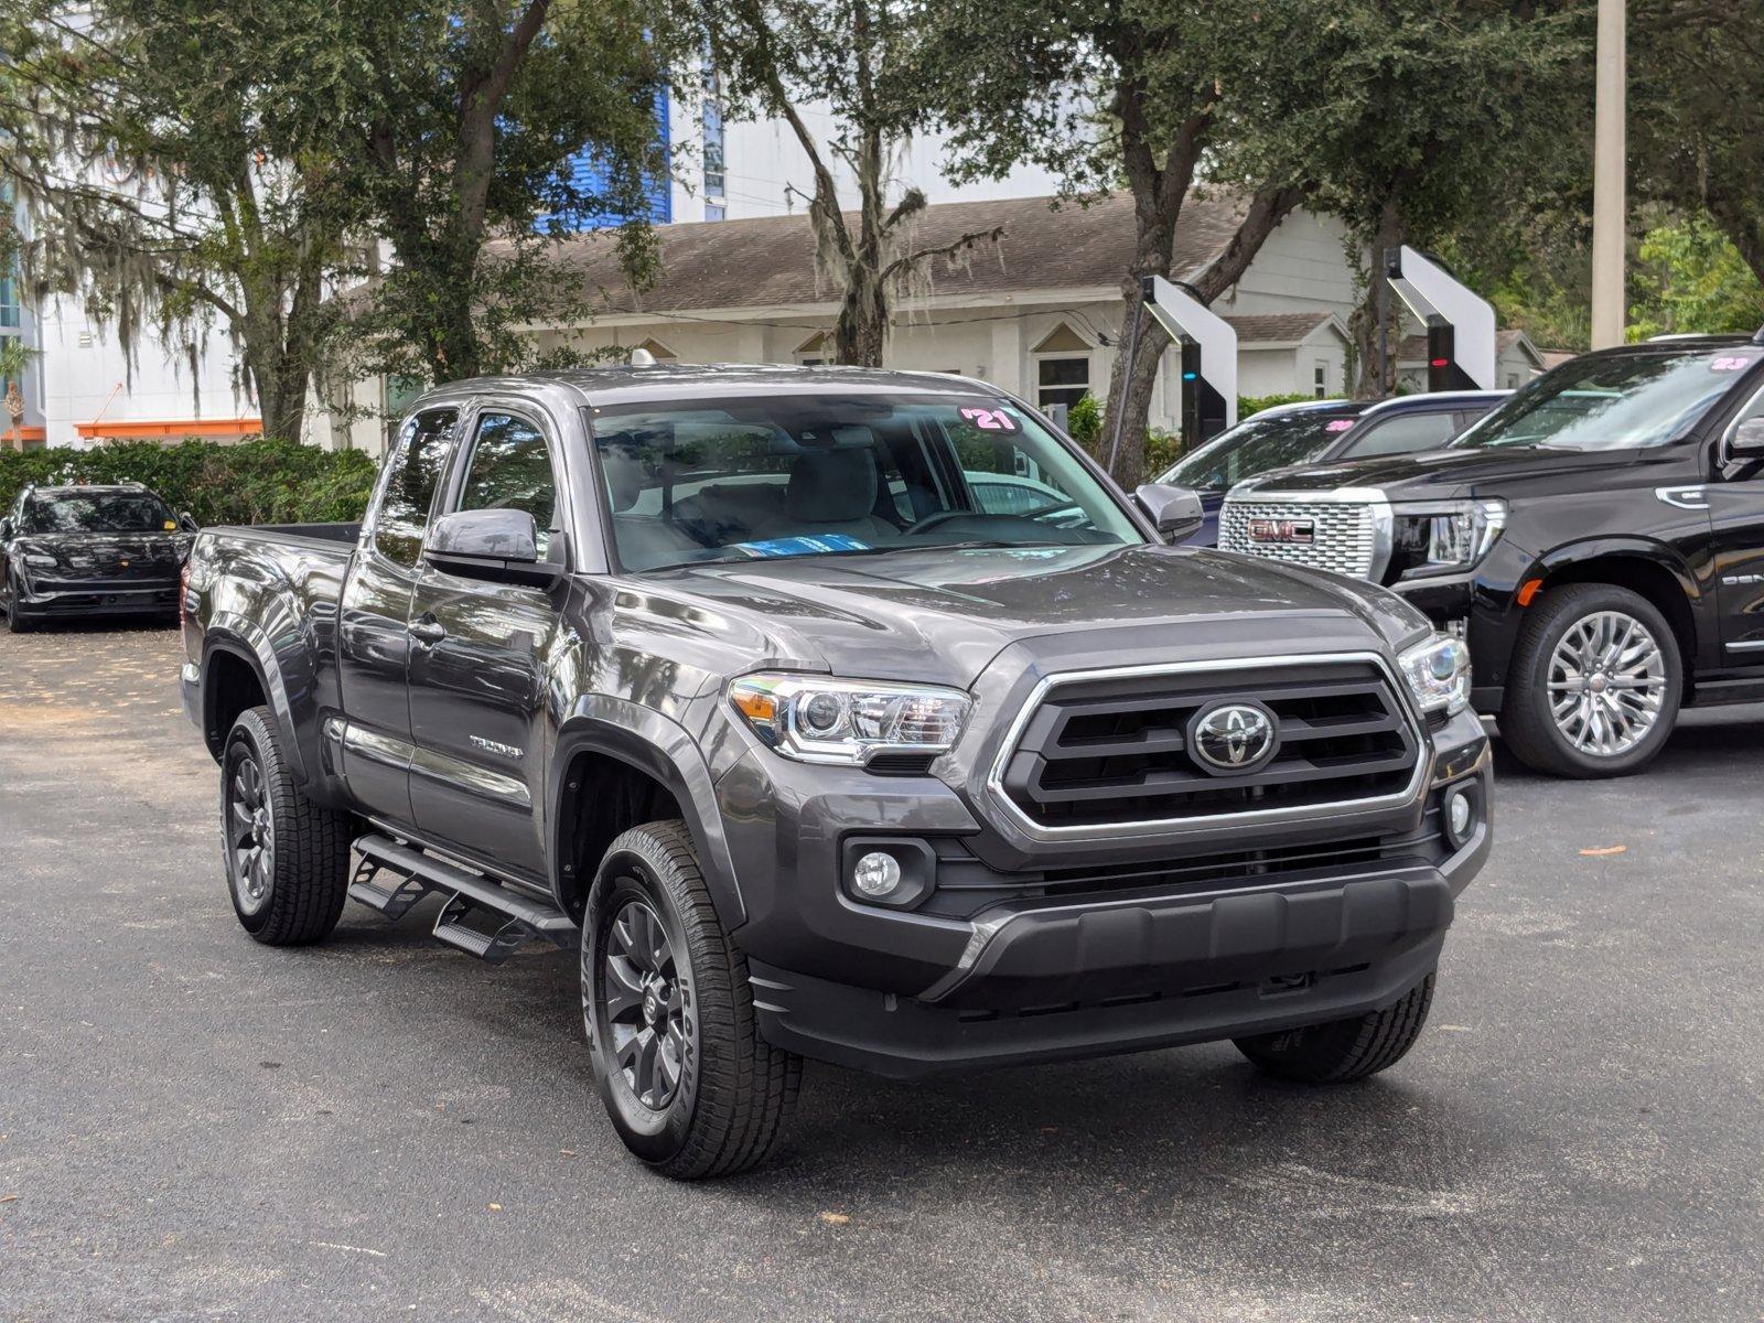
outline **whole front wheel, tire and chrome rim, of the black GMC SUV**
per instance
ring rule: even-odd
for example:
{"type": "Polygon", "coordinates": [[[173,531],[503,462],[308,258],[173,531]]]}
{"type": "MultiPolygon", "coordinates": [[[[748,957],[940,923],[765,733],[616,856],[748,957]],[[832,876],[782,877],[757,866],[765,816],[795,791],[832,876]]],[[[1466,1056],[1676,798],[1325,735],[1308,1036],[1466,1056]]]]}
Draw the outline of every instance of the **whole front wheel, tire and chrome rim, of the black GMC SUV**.
{"type": "Polygon", "coordinates": [[[1678,721],[1678,639],[1660,610],[1614,584],[1549,593],[1519,632],[1501,737],[1556,776],[1623,776],[1648,766],[1678,721]]]}

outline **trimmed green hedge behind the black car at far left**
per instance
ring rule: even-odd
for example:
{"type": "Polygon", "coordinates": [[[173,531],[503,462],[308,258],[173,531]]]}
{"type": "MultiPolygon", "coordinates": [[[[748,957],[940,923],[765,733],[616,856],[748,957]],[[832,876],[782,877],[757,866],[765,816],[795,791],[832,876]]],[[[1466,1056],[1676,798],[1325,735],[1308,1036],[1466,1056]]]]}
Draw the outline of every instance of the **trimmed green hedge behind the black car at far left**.
{"type": "Polygon", "coordinates": [[[0,448],[0,510],[25,483],[139,482],[198,524],[316,524],[367,510],[374,460],[298,441],[111,441],[93,450],[0,448]]]}

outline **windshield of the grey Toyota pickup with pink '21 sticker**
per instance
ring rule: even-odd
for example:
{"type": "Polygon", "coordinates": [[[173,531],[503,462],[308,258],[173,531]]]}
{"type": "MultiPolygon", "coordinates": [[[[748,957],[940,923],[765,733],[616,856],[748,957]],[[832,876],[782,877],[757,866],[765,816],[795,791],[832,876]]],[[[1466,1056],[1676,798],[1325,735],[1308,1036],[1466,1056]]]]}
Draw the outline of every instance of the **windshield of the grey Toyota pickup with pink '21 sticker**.
{"type": "Polygon", "coordinates": [[[626,570],[1143,542],[1076,455],[991,397],[624,406],[594,415],[594,446],[626,570]]]}

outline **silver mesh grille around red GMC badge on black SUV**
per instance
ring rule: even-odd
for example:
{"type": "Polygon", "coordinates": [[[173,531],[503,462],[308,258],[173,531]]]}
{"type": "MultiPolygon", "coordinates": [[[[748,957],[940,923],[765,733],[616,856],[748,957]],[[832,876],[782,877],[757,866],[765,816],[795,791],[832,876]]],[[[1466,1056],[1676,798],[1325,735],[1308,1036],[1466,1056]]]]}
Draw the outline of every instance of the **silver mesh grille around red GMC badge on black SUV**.
{"type": "Polygon", "coordinates": [[[1349,579],[1379,582],[1390,564],[1395,519],[1390,501],[1374,487],[1334,492],[1258,490],[1254,478],[1238,483],[1219,508],[1219,550],[1256,556],[1307,570],[1330,570],[1349,579]],[[1309,519],[1309,543],[1251,542],[1256,519],[1309,519]]]}

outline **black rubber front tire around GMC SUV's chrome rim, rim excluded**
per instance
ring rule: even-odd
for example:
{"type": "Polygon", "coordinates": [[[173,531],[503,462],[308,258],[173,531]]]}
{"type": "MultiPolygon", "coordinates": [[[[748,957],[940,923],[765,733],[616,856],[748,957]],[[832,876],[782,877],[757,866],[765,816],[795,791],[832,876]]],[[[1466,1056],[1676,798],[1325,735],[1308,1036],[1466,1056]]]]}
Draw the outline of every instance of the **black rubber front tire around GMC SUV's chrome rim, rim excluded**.
{"type": "Polygon", "coordinates": [[[1683,691],[1685,663],[1678,635],[1658,607],[1641,593],[1616,584],[1570,584],[1545,593],[1519,630],[1506,699],[1501,704],[1501,739],[1533,771],[1575,778],[1628,776],[1653,762],[1672,737],[1683,691]],[[1665,681],[1653,727],[1632,746],[1612,753],[1575,748],[1556,723],[1549,690],[1551,658],[1558,644],[1570,630],[1600,612],[1623,612],[1646,626],[1658,646],[1665,681]]]}

